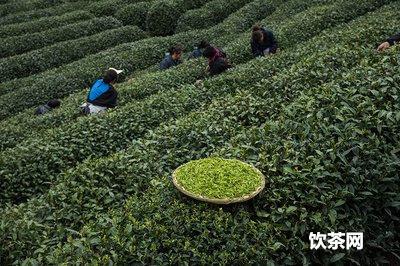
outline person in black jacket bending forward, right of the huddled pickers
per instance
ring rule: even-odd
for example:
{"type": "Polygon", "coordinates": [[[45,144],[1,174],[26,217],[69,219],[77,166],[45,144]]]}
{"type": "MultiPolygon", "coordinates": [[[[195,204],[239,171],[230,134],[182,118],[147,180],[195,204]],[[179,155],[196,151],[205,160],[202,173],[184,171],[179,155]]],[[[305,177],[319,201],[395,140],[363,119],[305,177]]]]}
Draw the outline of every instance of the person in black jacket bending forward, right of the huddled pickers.
{"type": "Polygon", "coordinates": [[[254,26],[251,36],[251,52],[254,56],[268,56],[275,54],[278,42],[271,30],[254,26]]]}

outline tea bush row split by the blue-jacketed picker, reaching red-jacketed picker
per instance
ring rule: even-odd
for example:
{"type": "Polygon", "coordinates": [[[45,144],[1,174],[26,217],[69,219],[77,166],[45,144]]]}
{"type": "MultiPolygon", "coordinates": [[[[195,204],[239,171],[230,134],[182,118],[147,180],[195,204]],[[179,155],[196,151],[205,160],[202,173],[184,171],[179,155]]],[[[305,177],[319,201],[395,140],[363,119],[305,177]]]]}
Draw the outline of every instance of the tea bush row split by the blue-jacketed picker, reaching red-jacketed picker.
{"type": "MultiPolygon", "coordinates": [[[[190,61],[185,67],[164,72],[142,73],[140,77],[123,84],[117,84],[118,108],[130,101],[141,100],[151,94],[186,83],[194,83],[204,76],[203,64],[190,61]]],[[[46,129],[72,123],[78,116],[77,106],[87,97],[87,91],[76,93],[63,100],[62,106],[44,116],[33,116],[33,110],[23,112],[0,122],[0,150],[12,148],[28,136],[32,137],[46,129]]]]}

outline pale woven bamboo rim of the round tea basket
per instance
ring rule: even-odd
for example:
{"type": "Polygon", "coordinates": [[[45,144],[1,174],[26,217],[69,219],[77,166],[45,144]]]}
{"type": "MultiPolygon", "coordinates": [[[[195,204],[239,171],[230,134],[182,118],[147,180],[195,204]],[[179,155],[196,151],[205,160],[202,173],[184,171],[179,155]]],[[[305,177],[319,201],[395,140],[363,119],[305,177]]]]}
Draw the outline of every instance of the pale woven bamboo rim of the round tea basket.
{"type": "Polygon", "coordinates": [[[200,200],[200,201],[204,201],[204,202],[208,202],[208,203],[214,203],[214,204],[231,204],[231,203],[245,202],[245,201],[248,201],[248,200],[254,198],[255,196],[257,196],[257,195],[265,188],[265,176],[264,176],[263,173],[261,173],[260,170],[258,170],[257,168],[255,168],[255,167],[254,167],[253,165],[251,165],[251,164],[245,163],[245,162],[240,161],[240,160],[237,160],[237,159],[226,159],[226,160],[236,160],[236,161],[239,161],[239,162],[241,162],[241,163],[244,163],[244,164],[246,164],[246,165],[248,165],[248,166],[253,167],[253,169],[254,169],[256,172],[258,172],[258,173],[262,176],[262,180],[261,180],[260,186],[258,186],[258,187],[256,188],[256,190],[254,190],[253,192],[251,192],[251,193],[249,193],[249,194],[247,194],[247,195],[244,195],[244,196],[242,196],[242,197],[238,197],[238,198],[232,198],[232,199],[229,199],[229,198],[227,198],[227,199],[216,199],[216,198],[207,198],[207,197],[203,197],[203,196],[201,196],[201,195],[198,195],[198,194],[195,194],[195,193],[192,193],[192,192],[186,190],[181,184],[179,184],[179,182],[178,182],[178,180],[177,180],[177,178],[176,178],[176,173],[180,170],[180,168],[183,167],[184,165],[186,165],[186,164],[189,163],[189,162],[180,165],[178,168],[176,168],[176,169],[174,170],[174,172],[172,173],[172,182],[174,183],[174,186],[175,186],[180,192],[182,192],[183,194],[185,194],[185,195],[187,195],[187,196],[189,196],[189,197],[191,197],[191,198],[200,200]]]}

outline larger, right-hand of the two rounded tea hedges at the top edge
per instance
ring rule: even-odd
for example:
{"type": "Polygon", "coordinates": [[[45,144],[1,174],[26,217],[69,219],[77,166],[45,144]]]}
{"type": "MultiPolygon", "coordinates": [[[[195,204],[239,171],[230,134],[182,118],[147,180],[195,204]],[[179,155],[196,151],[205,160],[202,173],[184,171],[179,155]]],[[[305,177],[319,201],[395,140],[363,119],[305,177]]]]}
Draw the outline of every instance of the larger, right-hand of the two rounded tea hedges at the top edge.
{"type": "Polygon", "coordinates": [[[146,29],[153,35],[168,35],[175,32],[179,17],[187,10],[199,8],[210,0],[158,0],[146,17],[146,29]]]}

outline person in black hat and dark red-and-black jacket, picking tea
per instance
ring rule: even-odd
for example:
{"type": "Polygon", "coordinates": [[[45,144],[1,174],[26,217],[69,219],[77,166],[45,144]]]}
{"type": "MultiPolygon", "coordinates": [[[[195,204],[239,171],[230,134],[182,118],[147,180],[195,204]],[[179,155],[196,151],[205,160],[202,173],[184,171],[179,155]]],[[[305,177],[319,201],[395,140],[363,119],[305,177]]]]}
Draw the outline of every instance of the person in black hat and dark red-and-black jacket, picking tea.
{"type": "Polygon", "coordinates": [[[225,52],[220,49],[208,46],[204,49],[203,56],[208,59],[206,72],[208,72],[210,76],[218,75],[230,67],[225,52]]]}

